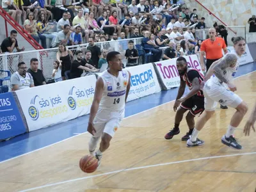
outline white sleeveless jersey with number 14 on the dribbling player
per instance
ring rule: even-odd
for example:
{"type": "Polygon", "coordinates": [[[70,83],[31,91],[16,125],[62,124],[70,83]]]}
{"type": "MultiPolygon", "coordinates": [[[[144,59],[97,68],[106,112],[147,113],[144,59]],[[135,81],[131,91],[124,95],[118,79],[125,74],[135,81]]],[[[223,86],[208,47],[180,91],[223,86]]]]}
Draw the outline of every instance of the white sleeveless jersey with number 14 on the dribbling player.
{"type": "Polygon", "coordinates": [[[109,111],[124,109],[126,88],[129,81],[127,70],[120,71],[118,77],[109,74],[108,70],[105,70],[100,77],[103,79],[104,88],[99,108],[108,109],[109,111]]]}

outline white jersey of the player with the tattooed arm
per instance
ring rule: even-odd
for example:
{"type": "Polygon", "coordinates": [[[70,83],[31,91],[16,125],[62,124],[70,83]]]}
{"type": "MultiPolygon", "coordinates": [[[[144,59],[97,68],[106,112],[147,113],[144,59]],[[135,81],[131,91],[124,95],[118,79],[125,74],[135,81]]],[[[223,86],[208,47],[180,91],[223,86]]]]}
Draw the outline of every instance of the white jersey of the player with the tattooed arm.
{"type": "MultiPolygon", "coordinates": [[[[239,68],[239,56],[237,55],[236,51],[232,51],[231,53],[234,53],[236,54],[237,56],[237,63],[235,65],[235,67],[228,67],[228,68],[225,68],[223,70],[221,70],[221,73],[225,76],[225,78],[228,80],[228,81],[232,81],[232,79],[234,78],[234,76],[236,75],[236,72],[239,68]]],[[[223,57],[223,59],[225,59],[225,56],[223,57]]],[[[211,81],[213,83],[216,83],[216,84],[221,84],[223,86],[227,86],[227,84],[223,83],[222,81],[220,81],[220,79],[218,79],[218,77],[216,76],[212,76],[211,77],[211,81]]]]}

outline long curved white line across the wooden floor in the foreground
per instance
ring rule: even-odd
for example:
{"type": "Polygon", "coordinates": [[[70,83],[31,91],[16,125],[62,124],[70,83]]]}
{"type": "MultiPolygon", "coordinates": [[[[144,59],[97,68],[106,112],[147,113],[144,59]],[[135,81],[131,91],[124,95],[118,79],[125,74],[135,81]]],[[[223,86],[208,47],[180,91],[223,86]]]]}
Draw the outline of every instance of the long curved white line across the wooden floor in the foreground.
{"type": "Polygon", "coordinates": [[[169,162],[169,163],[159,163],[159,164],[152,164],[152,165],[147,165],[147,166],[139,166],[139,167],[127,168],[127,169],[123,169],[123,170],[116,170],[114,172],[100,173],[100,174],[97,174],[97,175],[80,177],[80,178],[77,178],[77,179],[65,180],[65,181],[56,182],[56,183],[53,183],[53,184],[47,184],[47,185],[44,185],[44,186],[39,186],[39,187],[36,187],[36,188],[25,189],[25,190],[19,191],[19,192],[33,191],[35,189],[42,189],[42,188],[47,188],[47,187],[51,187],[51,186],[57,186],[57,185],[60,185],[60,184],[66,184],[68,182],[76,182],[77,180],[91,179],[93,177],[100,177],[100,176],[103,176],[103,175],[110,175],[110,174],[113,174],[113,173],[128,172],[128,171],[132,171],[132,170],[141,170],[141,169],[145,169],[145,168],[152,168],[152,167],[164,166],[164,165],[169,165],[169,164],[187,163],[187,162],[191,162],[191,161],[200,161],[200,160],[217,159],[217,158],[234,157],[234,156],[248,156],[248,155],[254,155],[254,154],[256,154],[256,152],[249,152],[249,153],[243,153],[243,154],[231,154],[231,155],[225,155],[225,156],[210,156],[210,157],[202,157],[202,158],[197,158],[197,159],[187,159],[187,160],[182,160],[182,161],[173,161],[173,162],[169,162]]]}

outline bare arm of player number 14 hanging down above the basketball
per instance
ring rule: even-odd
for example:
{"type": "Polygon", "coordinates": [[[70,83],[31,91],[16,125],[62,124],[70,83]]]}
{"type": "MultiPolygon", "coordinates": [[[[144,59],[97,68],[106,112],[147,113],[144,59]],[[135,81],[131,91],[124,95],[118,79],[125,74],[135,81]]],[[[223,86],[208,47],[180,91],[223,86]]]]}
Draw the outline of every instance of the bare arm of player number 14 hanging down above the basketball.
{"type": "Polygon", "coordinates": [[[99,104],[100,104],[100,100],[102,98],[103,88],[104,88],[103,80],[101,77],[99,77],[99,79],[97,79],[97,82],[96,82],[95,93],[94,93],[94,98],[93,98],[93,102],[92,102],[90,118],[89,118],[89,123],[88,123],[88,128],[87,128],[87,131],[90,132],[90,134],[94,134],[96,132],[94,129],[94,126],[93,126],[93,120],[94,120],[95,115],[99,109],[99,104]]]}

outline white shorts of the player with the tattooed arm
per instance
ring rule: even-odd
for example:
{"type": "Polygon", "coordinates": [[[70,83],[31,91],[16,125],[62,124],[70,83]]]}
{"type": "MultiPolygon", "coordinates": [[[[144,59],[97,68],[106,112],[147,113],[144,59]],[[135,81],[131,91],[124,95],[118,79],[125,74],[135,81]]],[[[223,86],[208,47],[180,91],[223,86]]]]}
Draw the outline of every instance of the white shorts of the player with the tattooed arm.
{"type": "Polygon", "coordinates": [[[204,108],[205,111],[214,111],[218,102],[222,106],[237,108],[243,100],[224,86],[213,83],[211,79],[204,85],[204,108]]]}

